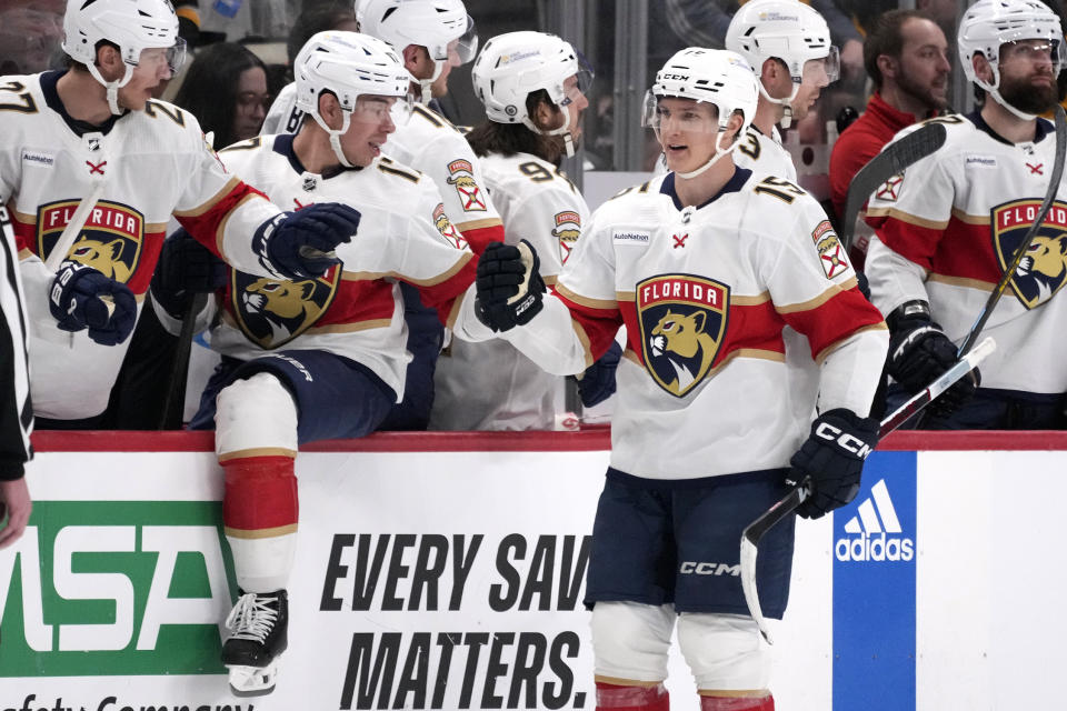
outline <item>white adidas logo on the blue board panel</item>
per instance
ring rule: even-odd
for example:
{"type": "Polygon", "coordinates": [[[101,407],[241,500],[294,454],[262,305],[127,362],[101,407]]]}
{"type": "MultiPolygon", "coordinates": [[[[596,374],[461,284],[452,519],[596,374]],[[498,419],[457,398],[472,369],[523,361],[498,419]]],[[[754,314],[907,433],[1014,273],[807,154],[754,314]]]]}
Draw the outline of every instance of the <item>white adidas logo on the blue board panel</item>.
{"type": "Polygon", "coordinates": [[[915,541],[903,532],[881,479],[870,488],[870,498],[859,504],[858,514],[845,523],[848,535],[836,541],[834,555],[840,561],[909,561],[915,558],[915,541]]]}

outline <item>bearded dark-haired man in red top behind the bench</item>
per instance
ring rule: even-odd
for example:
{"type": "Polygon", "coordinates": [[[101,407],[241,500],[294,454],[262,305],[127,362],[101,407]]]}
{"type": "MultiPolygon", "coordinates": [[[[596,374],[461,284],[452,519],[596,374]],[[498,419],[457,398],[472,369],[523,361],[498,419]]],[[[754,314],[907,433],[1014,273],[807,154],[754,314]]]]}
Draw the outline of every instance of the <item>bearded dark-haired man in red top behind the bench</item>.
{"type": "MultiPolygon", "coordinates": [[[[945,33],[926,13],[893,10],[876,21],[864,43],[864,66],[875,93],[864,114],[837,139],[830,154],[830,198],[840,218],[848,186],[900,129],[947,106],[951,66],[945,33]]],[[[864,266],[867,236],[858,233],[849,258],[864,266]]]]}

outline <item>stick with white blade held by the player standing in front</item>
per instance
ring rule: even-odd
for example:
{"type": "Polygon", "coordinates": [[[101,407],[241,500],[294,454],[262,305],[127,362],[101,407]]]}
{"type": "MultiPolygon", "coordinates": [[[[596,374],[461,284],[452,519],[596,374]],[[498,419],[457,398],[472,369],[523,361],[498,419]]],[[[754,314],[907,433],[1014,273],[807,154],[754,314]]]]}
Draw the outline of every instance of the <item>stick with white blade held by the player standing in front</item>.
{"type": "MultiPolygon", "coordinates": [[[[989,353],[996,350],[997,344],[993,338],[986,338],[981,343],[975,347],[951,368],[946,370],[937,380],[927,385],[926,390],[916,393],[910,400],[896,409],[878,427],[878,438],[881,439],[889,432],[907,422],[913,415],[923,408],[937,399],[939,394],[948,390],[953,384],[974,370],[989,353]]],[[[774,644],[770,632],[767,630],[767,621],[764,619],[762,609],[759,605],[759,595],[756,590],[756,557],[759,551],[759,540],[775,524],[791,514],[797,507],[804,503],[805,499],[811,493],[811,481],[806,479],[796,489],[786,497],[776,502],[761,517],[752,521],[741,532],[741,590],[745,592],[745,603],[748,611],[756,620],[764,639],[768,644],[774,644]]]]}

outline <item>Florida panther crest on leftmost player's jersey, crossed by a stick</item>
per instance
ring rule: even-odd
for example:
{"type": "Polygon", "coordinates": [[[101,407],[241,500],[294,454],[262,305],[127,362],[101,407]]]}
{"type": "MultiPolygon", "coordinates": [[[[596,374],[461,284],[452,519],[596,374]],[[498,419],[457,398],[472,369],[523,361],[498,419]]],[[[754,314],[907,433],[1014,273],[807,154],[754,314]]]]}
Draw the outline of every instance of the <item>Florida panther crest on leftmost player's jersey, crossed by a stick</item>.
{"type": "MultiPolygon", "coordinates": [[[[38,209],[37,253],[48,259],[52,247],[78,209],[78,200],[49,202],[38,209]]],[[[137,271],[144,243],[144,216],[119,202],[100,200],[67,253],[104,277],[126,283],[137,271]]]]}

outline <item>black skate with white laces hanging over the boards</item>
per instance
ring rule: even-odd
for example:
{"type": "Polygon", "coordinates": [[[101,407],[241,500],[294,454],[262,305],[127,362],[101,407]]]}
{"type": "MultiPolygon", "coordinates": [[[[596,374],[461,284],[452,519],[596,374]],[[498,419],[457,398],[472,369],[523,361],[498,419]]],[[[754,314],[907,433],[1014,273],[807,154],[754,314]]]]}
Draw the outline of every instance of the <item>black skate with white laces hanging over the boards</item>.
{"type": "Polygon", "coordinates": [[[222,644],[222,663],[230,670],[230,689],[238,697],[259,697],[275,690],[278,658],[288,647],[289,599],[285,590],[242,591],[226,618],[233,631],[222,644]]]}

